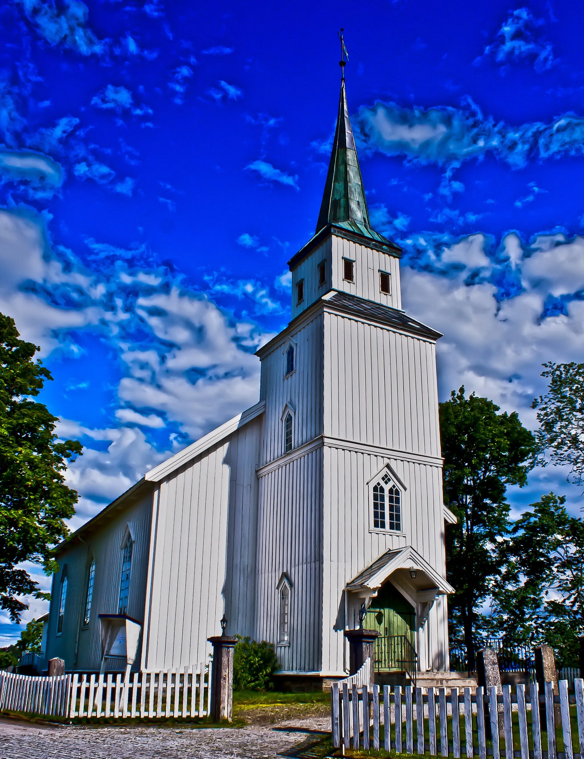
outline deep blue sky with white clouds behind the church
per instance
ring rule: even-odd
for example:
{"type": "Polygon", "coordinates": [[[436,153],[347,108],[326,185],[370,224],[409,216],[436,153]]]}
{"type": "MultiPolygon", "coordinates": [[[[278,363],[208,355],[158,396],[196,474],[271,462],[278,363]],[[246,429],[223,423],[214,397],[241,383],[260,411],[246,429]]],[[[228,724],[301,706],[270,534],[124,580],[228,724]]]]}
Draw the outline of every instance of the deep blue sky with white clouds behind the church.
{"type": "MultiPolygon", "coordinates": [[[[3,3],[0,310],[86,446],[72,528],[256,402],[316,225],[341,26],[372,223],[404,249],[404,307],[444,332],[441,399],[464,383],[534,428],[542,362],[581,360],[584,8],[3,3]]],[[[554,490],[578,513],[565,477],[534,471],[514,512],[554,490]]]]}

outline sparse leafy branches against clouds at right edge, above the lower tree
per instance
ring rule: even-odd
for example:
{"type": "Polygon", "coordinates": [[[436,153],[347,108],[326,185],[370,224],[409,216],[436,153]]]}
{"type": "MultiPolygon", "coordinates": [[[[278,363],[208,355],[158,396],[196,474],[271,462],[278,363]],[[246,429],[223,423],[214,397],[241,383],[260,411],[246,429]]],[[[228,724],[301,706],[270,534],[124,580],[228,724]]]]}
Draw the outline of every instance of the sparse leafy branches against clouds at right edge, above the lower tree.
{"type": "Polygon", "coordinates": [[[548,392],[534,398],[539,429],[537,442],[542,452],[539,463],[570,467],[568,481],[584,481],[584,364],[542,364],[549,379],[548,392]]]}

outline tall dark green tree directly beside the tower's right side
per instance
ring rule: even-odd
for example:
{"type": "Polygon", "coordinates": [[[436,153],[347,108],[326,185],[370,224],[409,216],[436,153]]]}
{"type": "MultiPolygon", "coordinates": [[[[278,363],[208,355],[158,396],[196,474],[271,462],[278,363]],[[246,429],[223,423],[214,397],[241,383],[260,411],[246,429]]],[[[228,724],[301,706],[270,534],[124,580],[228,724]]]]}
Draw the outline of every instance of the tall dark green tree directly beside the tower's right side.
{"type": "Polygon", "coordinates": [[[508,485],[523,487],[533,466],[535,438],[516,413],[464,387],[440,404],[444,503],[458,522],[446,531],[446,571],[455,593],[448,600],[451,640],[466,647],[474,669],[484,617],[482,603],[501,573],[498,543],[508,531],[508,485]]]}

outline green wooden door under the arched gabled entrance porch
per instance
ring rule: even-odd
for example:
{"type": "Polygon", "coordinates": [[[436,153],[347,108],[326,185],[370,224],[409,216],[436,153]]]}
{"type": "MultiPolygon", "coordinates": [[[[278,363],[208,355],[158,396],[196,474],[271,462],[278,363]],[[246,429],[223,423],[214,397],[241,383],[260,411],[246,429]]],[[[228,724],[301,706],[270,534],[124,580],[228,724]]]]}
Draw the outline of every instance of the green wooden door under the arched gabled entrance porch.
{"type": "Polygon", "coordinates": [[[403,657],[411,653],[407,644],[416,647],[416,612],[391,583],[381,587],[372,599],[363,627],[379,633],[375,641],[375,669],[378,672],[403,669],[403,657]]]}

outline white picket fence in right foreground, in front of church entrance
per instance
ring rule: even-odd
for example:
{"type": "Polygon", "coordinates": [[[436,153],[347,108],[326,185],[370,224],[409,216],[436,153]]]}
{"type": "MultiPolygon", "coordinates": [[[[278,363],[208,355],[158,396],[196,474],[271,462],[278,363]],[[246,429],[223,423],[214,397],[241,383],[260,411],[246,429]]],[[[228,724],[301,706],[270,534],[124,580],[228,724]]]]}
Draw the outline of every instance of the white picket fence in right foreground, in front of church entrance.
{"type": "Polygon", "coordinates": [[[486,759],[487,754],[493,759],[501,759],[501,755],[504,759],[515,756],[520,759],[576,759],[578,756],[584,759],[584,681],[575,680],[579,754],[573,751],[567,680],[561,680],[559,685],[559,697],[554,697],[551,682],[545,683],[545,694],[541,696],[537,683],[532,683],[527,690],[525,685],[517,685],[516,693],[511,692],[510,685],[504,685],[503,694],[498,695],[497,688],[488,688],[488,693],[476,688],[473,693],[471,688],[461,688],[459,692],[459,688],[413,688],[412,685],[404,688],[353,685],[349,688],[344,683],[339,688],[335,682],[331,688],[332,742],[334,748],[343,744],[345,748],[352,745],[354,749],[363,747],[366,751],[371,748],[379,751],[382,745],[385,751],[394,748],[398,754],[413,754],[415,745],[416,754],[429,751],[436,756],[439,740],[440,755],[451,754],[458,759],[462,723],[467,759],[475,755],[486,759]],[[540,725],[540,709],[531,708],[540,701],[545,711],[543,726],[540,725]],[[554,703],[560,705],[563,752],[557,751],[554,703]],[[514,704],[517,717],[512,720],[514,704]],[[531,713],[529,723],[528,711],[531,713]],[[381,743],[380,726],[383,726],[381,743]],[[547,751],[542,745],[542,730],[546,733],[547,751]],[[519,739],[518,754],[513,751],[513,733],[515,739],[519,739]],[[491,745],[487,746],[487,742],[491,745]]]}

